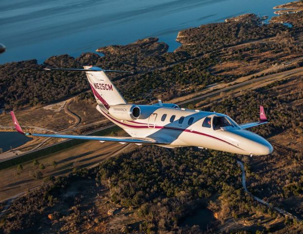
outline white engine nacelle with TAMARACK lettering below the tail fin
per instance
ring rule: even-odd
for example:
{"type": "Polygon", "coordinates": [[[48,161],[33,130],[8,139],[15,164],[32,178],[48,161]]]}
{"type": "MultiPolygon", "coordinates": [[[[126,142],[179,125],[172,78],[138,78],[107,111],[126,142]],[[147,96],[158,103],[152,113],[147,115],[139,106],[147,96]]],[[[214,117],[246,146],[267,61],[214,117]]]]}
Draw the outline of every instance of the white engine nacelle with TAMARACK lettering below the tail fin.
{"type": "Polygon", "coordinates": [[[115,118],[132,121],[140,117],[141,110],[139,106],[133,104],[118,104],[111,106],[108,113],[115,118]]]}

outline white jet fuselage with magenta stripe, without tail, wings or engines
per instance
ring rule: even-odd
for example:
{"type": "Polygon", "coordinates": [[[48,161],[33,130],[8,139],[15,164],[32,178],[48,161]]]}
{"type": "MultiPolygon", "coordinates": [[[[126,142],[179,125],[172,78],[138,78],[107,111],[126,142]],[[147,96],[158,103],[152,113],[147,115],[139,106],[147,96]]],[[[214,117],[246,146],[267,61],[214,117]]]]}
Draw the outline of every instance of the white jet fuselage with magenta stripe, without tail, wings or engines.
{"type": "Polygon", "coordinates": [[[273,151],[271,144],[263,137],[243,130],[223,114],[159,105],[141,105],[140,108],[143,113],[141,117],[126,121],[111,116],[102,105],[97,105],[102,115],[130,136],[161,138],[169,143],[159,144],[163,147],[198,146],[241,155],[268,155],[273,151]],[[215,128],[214,121],[222,117],[227,119],[230,126],[215,128]],[[210,125],[202,126],[205,120],[209,120],[210,125]]]}

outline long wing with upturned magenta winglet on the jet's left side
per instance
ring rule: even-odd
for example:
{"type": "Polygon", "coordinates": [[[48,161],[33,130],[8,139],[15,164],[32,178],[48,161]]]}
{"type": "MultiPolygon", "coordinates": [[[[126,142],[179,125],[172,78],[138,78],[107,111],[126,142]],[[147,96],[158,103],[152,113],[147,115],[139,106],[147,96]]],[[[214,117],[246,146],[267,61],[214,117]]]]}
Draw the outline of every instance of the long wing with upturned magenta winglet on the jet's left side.
{"type": "Polygon", "coordinates": [[[155,137],[99,137],[99,136],[85,136],[85,135],[63,135],[63,134],[38,134],[38,133],[24,133],[13,111],[10,112],[16,130],[25,136],[33,137],[57,137],[69,139],[82,139],[82,140],[99,140],[103,141],[116,141],[120,143],[136,143],[136,144],[168,144],[168,142],[155,137]]]}

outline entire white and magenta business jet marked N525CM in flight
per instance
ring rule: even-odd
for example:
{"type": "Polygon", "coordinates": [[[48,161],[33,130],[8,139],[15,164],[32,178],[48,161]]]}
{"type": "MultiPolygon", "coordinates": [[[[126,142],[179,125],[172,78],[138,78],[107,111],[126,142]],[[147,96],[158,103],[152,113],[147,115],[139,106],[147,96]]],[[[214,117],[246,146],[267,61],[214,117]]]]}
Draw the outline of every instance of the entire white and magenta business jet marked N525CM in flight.
{"type": "Polygon", "coordinates": [[[14,112],[11,112],[16,130],[25,136],[152,144],[168,148],[197,146],[250,156],[268,155],[273,151],[267,140],[246,130],[268,123],[263,106],[260,106],[259,121],[237,124],[224,114],[188,110],[173,103],[162,103],[161,100],[153,105],[127,103],[106,76],[107,72],[126,71],[103,70],[93,66],[84,66],[84,69],[45,68],[45,70],[85,72],[97,101],[97,110],[131,137],[24,133],[14,112]]]}

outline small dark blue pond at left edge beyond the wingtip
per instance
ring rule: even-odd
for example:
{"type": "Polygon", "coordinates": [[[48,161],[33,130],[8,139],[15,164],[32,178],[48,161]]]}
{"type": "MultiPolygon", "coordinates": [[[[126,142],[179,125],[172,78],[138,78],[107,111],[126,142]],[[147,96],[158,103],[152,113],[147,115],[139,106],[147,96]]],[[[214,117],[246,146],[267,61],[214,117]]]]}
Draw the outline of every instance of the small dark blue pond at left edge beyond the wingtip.
{"type": "Polygon", "coordinates": [[[8,151],[11,146],[14,149],[31,139],[32,138],[25,137],[18,132],[0,132],[0,148],[5,152],[8,151]]]}

